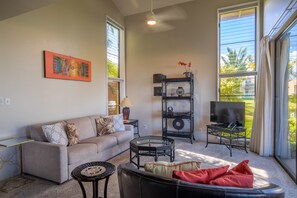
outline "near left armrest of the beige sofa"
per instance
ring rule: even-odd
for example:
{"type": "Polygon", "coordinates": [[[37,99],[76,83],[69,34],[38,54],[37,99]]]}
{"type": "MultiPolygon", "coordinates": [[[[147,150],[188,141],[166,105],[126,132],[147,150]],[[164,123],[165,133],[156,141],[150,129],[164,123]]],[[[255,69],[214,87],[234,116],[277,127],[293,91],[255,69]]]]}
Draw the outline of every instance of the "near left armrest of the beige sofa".
{"type": "Polygon", "coordinates": [[[23,171],[57,183],[68,180],[66,146],[49,142],[30,142],[23,147],[23,171]]]}

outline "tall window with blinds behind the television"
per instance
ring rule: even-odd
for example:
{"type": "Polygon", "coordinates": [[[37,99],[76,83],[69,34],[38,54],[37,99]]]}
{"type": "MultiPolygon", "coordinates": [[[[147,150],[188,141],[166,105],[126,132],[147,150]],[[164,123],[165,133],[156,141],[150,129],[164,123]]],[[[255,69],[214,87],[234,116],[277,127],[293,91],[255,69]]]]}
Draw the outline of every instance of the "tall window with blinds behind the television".
{"type": "Polygon", "coordinates": [[[220,101],[245,102],[245,127],[251,136],[256,79],[256,5],[220,9],[219,74],[220,101]]]}

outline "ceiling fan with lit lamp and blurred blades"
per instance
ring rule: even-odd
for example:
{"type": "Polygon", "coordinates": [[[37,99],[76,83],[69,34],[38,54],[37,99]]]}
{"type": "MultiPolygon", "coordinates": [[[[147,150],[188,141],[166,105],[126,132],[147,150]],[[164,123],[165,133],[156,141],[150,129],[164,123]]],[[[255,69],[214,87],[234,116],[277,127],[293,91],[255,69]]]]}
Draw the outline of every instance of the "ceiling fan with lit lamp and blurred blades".
{"type": "Polygon", "coordinates": [[[147,14],[146,23],[151,31],[164,32],[174,29],[170,21],[184,20],[186,18],[186,12],[178,6],[170,6],[155,13],[153,0],[150,0],[150,12],[147,14]]]}

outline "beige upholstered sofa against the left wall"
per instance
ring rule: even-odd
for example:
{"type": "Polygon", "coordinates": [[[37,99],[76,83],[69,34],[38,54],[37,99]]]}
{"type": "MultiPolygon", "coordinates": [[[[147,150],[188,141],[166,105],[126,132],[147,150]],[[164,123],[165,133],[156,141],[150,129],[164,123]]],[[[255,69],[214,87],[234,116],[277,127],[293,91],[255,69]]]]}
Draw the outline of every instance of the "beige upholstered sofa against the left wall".
{"type": "Polygon", "coordinates": [[[23,145],[23,172],[60,184],[71,179],[75,167],[90,161],[105,161],[127,150],[134,137],[133,126],[125,125],[125,131],[97,136],[95,119],[98,117],[85,116],[29,126],[28,136],[35,141],[23,145]],[[57,122],[74,123],[79,143],[72,146],[49,143],[42,126],[57,122]]]}

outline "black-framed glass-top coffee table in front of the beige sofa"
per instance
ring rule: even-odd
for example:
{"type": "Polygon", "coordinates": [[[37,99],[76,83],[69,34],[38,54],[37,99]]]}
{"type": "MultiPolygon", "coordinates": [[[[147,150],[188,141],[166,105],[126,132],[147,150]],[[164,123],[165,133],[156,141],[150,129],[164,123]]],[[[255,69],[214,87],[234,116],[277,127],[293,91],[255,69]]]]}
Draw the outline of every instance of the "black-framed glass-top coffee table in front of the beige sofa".
{"type": "Polygon", "coordinates": [[[130,141],[130,163],[139,169],[140,156],[153,156],[158,161],[159,156],[169,156],[170,162],[175,158],[174,139],[162,136],[143,136],[130,141]],[[134,159],[137,159],[137,162],[134,159]]]}

